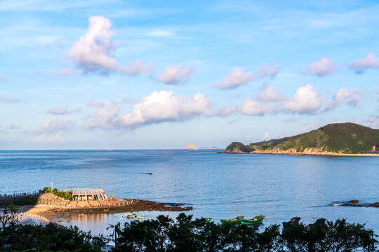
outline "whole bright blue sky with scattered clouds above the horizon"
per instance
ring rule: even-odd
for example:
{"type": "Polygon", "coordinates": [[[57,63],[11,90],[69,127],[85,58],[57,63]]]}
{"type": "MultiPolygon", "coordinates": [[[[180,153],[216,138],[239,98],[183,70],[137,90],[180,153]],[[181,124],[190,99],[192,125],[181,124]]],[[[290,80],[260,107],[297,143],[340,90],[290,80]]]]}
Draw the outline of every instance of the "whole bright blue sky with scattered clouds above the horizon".
{"type": "Polygon", "coordinates": [[[0,1],[0,149],[379,128],[378,1],[0,1]]]}

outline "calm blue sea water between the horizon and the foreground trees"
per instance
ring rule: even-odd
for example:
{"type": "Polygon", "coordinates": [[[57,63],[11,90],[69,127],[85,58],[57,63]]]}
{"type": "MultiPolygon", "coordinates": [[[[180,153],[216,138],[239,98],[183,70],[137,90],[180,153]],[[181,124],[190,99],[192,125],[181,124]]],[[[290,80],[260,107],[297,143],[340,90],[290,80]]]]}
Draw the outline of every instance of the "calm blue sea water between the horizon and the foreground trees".
{"type": "MultiPolygon", "coordinates": [[[[379,201],[379,157],[217,154],[217,150],[0,151],[0,193],[51,186],[102,188],[115,197],[190,204],[195,218],[265,215],[265,225],[300,216],[366,223],[379,235],[379,208],[333,207],[331,202],[379,201]],[[152,175],[148,175],[152,172],[152,175]]],[[[176,212],[138,215],[175,218],[176,212]]],[[[93,233],[124,223],[122,214],[63,218],[93,233]]]]}

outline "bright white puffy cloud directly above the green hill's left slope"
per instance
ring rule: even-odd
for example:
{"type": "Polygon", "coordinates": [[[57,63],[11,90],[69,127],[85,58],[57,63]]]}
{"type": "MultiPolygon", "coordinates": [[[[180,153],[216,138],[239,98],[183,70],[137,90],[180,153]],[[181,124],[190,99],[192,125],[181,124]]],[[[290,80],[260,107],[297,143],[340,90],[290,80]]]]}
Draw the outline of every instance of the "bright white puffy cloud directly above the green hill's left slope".
{"type": "Polygon", "coordinates": [[[324,97],[313,90],[312,85],[299,87],[296,93],[284,102],[283,110],[287,113],[316,114],[319,113],[324,97]]]}

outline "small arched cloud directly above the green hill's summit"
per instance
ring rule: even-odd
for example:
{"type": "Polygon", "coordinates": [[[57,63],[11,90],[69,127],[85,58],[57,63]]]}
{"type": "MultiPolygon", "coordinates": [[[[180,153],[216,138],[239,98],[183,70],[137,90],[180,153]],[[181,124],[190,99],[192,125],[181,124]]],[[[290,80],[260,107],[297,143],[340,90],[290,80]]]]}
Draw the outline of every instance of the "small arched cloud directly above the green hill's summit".
{"type": "Polygon", "coordinates": [[[354,89],[350,90],[348,87],[343,87],[333,95],[333,100],[326,104],[326,111],[335,109],[340,104],[347,102],[350,106],[357,106],[361,102],[361,91],[354,89]]]}

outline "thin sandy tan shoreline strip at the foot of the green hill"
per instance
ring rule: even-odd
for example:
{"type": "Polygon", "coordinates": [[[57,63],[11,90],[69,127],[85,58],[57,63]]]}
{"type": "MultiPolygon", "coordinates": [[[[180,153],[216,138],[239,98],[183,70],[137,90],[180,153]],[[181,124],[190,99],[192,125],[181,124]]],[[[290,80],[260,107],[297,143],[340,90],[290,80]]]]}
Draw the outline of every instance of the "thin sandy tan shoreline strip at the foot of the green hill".
{"type": "Polygon", "coordinates": [[[347,153],[328,153],[328,152],[286,152],[286,151],[251,151],[249,153],[243,151],[220,151],[220,154],[265,154],[265,155],[316,155],[316,156],[343,156],[343,157],[379,157],[379,154],[373,153],[359,153],[359,154],[347,154],[347,153]]]}

